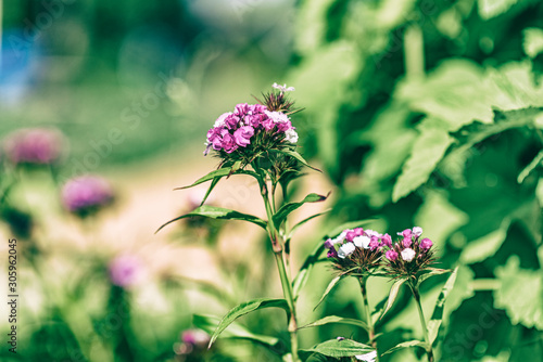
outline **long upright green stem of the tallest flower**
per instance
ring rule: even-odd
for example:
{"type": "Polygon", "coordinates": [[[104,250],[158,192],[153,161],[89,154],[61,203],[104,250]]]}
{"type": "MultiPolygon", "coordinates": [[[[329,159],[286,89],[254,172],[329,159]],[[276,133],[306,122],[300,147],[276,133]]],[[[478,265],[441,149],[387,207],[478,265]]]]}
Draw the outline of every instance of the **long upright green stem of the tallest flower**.
{"type": "Polygon", "coordinates": [[[292,292],[292,282],[290,281],[289,273],[287,272],[286,260],[283,256],[285,248],[281,241],[279,240],[279,235],[274,225],[273,221],[274,211],[269,203],[269,195],[266,184],[262,185],[262,198],[264,201],[264,206],[266,208],[266,215],[268,218],[268,233],[269,233],[269,238],[272,241],[272,246],[274,248],[274,256],[277,262],[279,277],[281,280],[282,294],[290,309],[290,320],[289,320],[288,331],[290,334],[292,361],[299,362],[300,359],[298,357],[298,323],[296,323],[294,295],[292,292]]]}

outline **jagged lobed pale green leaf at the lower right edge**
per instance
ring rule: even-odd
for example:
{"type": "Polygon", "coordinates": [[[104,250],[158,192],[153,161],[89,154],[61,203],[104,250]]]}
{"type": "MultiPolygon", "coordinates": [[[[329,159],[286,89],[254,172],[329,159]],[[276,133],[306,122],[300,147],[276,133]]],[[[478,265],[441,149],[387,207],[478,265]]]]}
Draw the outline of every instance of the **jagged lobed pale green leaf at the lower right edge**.
{"type": "Polygon", "coordinates": [[[494,270],[502,283],[494,290],[494,307],[505,309],[513,324],[543,331],[543,274],[541,270],[520,268],[518,256],[494,270]]]}

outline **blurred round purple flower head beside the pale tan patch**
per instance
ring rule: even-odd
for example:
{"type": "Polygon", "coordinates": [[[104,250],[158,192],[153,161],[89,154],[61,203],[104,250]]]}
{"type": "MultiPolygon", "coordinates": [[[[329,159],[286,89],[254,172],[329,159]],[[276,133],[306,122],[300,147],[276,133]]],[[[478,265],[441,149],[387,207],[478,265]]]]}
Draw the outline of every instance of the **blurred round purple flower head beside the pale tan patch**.
{"type": "Polygon", "coordinates": [[[62,189],[62,202],[72,212],[86,212],[113,201],[113,190],[105,179],[83,176],[68,180],[62,189]]]}

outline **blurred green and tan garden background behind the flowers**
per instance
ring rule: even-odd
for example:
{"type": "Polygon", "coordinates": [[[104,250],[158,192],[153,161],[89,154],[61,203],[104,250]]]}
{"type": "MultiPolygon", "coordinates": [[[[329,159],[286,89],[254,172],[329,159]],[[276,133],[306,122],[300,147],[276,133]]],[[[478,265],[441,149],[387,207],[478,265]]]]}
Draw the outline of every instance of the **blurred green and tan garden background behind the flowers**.
{"type": "MultiPolygon", "coordinates": [[[[0,4],[0,285],[8,295],[16,238],[20,294],[17,354],[4,337],[2,361],[280,360],[288,336],[275,311],[241,319],[238,337],[248,338],[209,352],[201,332],[187,337],[243,300],[280,296],[264,233],[189,220],[154,234],[202,199],[205,186],[173,189],[217,166],[202,154],[216,117],[275,81],[295,87],[300,152],[324,170],[292,197],[332,192],[295,215],[332,208],[298,234],[293,267],[340,222],[372,218],[390,234],[420,225],[441,267],[459,266],[441,360],[543,361],[540,1],[0,4]],[[59,157],[14,160],[22,129],[58,132],[59,157]],[[84,174],[108,180],[114,202],[70,212],[63,188],[84,174]]],[[[209,203],[265,215],[257,185],[241,177],[209,203]]],[[[314,269],[301,324],[361,316],[355,281],[313,311],[331,277],[326,263],[314,269]]],[[[444,279],[424,286],[428,313],[444,279]]],[[[370,302],[389,287],[370,285],[370,302]]],[[[420,334],[407,292],[383,321],[383,351],[420,334]]],[[[366,338],[328,325],[302,331],[301,345],[337,336],[366,338]]]]}

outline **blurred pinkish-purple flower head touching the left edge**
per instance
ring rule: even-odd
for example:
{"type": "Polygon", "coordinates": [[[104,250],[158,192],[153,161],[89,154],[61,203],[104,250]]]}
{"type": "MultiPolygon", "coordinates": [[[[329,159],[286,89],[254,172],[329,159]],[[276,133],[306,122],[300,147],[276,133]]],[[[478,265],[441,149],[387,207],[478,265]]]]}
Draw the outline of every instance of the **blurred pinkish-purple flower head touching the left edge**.
{"type": "Polygon", "coordinates": [[[62,155],[63,137],[52,129],[20,129],[3,142],[3,152],[13,164],[49,165],[62,155]]]}

